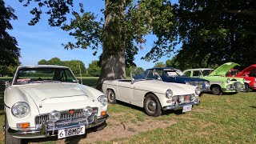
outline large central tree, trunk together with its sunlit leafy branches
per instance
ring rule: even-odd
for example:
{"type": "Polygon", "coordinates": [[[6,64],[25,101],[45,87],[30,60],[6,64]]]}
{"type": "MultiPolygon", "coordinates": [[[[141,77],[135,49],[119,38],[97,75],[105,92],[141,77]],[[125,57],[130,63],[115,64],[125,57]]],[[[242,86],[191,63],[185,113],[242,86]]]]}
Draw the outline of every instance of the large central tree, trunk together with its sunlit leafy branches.
{"type": "MultiPolygon", "coordinates": [[[[30,2],[32,0],[27,0],[24,6],[28,6],[30,2]]],[[[36,24],[43,13],[50,15],[50,26],[60,26],[77,39],[77,42],[63,44],[66,49],[90,47],[96,54],[98,47],[102,46],[102,70],[98,89],[101,89],[101,84],[106,79],[126,77],[125,64],[134,65],[134,54],[142,49],[142,44],[146,42],[145,35],[155,34],[158,37],[154,47],[144,57],[146,60],[158,59],[164,52],[172,51],[174,46],[170,42],[177,40],[177,34],[172,32],[176,21],[171,3],[167,0],[106,0],[106,7],[102,10],[105,14],[104,21],[97,21],[96,15],[86,12],[82,3],[79,4],[80,10],[74,11],[73,0],[34,2],[38,5],[30,11],[34,18],[29,24],[36,24]],[[68,23],[66,14],[70,13],[74,18],[68,23]]]]}

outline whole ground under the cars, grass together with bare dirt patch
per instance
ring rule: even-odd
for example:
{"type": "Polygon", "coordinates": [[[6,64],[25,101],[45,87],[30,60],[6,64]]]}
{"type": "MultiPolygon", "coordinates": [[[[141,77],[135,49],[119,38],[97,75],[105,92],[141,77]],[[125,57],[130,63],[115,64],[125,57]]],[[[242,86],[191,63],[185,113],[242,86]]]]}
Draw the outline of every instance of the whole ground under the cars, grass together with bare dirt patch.
{"type": "MultiPolygon", "coordinates": [[[[11,78],[0,78],[10,80],[11,78]]],[[[98,78],[82,78],[94,86],[98,78]]],[[[0,126],[4,125],[3,90],[0,86],[0,126]]],[[[30,143],[255,143],[256,93],[203,94],[201,104],[181,114],[168,110],[158,118],[123,102],[108,106],[110,118],[104,130],[88,130],[86,136],[31,139],[30,143]]],[[[4,143],[4,133],[0,134],[4,143]]]]}

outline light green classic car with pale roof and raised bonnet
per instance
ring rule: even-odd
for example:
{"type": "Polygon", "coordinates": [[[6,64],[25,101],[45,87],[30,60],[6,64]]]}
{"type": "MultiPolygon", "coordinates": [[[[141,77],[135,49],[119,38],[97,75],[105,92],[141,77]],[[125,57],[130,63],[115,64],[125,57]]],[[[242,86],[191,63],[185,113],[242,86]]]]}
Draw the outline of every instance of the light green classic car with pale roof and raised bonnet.
{"type": "Polygon", "coordinates": [[[224,93],[236,93],[238,91],[245,91],[244,78],[229,78],[226,73],[237,63],[227,62],[219,66],[216,70],[213,69],[189,69],[184,70],[183,73],[190,75],[190,77],[204,78],[210,81],[210,90],[213,94],[221,95],[224,93]]]}

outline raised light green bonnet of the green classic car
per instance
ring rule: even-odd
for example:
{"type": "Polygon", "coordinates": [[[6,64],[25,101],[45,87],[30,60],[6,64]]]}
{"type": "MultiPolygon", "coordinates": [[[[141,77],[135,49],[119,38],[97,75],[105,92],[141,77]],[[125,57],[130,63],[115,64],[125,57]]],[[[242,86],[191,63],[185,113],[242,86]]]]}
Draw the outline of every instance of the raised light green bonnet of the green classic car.
{"type": "Polygon", "coordinates": [[[239,66],[238,63],[234,62],[226,62],[222,66],[218,66],[217,69],[215,69],[212,73],[209,74],[209,76],[226,76],[226,73],[232,69],[234,66],[239,66]]]}

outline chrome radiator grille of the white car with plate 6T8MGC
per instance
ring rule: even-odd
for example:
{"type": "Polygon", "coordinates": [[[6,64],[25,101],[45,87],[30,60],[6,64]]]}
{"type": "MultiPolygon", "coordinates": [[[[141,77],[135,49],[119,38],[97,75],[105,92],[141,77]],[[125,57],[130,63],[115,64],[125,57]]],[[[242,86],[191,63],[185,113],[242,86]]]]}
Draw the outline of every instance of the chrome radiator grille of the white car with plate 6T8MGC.
{"type": "Polygon", "coordinates": [[[98,108],[93,108],[94,113],[90,117],[85,117],[82,109],[74,110],[74,114],[70,114],[69,110],[61,111],[61,118],[57,122],[49,120],[49,114],[41,114],[35,117],[35,125],[45,124],[47,129],[53,127],[70,126],[79,122],[91,123],[94,121],[94,116],[97,116],[98,108]]]}

